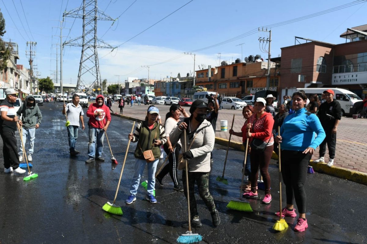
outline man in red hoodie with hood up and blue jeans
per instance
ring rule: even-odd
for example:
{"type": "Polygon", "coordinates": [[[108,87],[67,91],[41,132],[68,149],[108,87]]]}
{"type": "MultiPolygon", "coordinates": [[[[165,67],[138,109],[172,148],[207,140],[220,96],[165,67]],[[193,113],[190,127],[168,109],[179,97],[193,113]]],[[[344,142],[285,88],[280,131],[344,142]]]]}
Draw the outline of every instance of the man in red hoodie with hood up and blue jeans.
{"type": "Polygon", "coordinates": [[[86,163],[93,163],[94,158],[98,161],[105,161],[102,158],[103,139],[105,138],[105,131],[111,122],[111,114],[108,107],[104,104],[103,95],[98,95],[95,103],[89,105],[87,111],[89,117],[89,142],[88,142],[88,159],[86,163]],[[97,141],[97,155],[95,149],[95,142],[97,141]]]}

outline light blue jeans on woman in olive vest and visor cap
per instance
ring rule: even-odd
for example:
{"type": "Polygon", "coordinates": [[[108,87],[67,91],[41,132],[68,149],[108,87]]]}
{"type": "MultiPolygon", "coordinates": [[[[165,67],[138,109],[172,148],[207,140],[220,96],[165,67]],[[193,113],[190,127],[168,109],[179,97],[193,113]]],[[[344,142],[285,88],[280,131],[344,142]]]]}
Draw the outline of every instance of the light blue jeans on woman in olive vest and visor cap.
{"type": "Polygon", "coordinates": [[[148,194],[153,195],[154,185],[156,184],[156,169],[159,158],[153,162],[147,163],[145,159],[137,159],[135,162],[135,173],[131,181],[130,194],[137,195],[141,175],[144,172],[145,165],[148,164],[148,194]]]}

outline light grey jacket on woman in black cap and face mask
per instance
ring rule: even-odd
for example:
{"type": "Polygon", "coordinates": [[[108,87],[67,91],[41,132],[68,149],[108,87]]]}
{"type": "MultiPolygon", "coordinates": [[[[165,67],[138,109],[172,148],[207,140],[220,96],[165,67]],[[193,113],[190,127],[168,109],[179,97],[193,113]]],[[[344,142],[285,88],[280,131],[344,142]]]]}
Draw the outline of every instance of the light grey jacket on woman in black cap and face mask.
{"type": "MultiPolygon", "coordinates": [[[[188,124],[190,118],[185,118],[183,122],[188,124]]],[[[192,139],[196,136],[194,143],[190,148],[190,152],[194,156],[194,158],[189,160],[189,172],[210,172],[210,152],[214,148],[215,134],[211,123],[207,120],[204,120],[203,123],[199,125],[196,129],[195,134],[192,139]]],[[[182,152],[185,152],[185,142],[184,134],[178,126],[173,129],[170,133],[170,142],[171,144],[177,143],[178,139],[181,139],[182,143],[182,152]]],[[[191,140],[192,140],[191,139],[191,140]]],[[[186,134],[186,149],[189,149],[191,140],[189,140],[188,135],[186,134]]]]}

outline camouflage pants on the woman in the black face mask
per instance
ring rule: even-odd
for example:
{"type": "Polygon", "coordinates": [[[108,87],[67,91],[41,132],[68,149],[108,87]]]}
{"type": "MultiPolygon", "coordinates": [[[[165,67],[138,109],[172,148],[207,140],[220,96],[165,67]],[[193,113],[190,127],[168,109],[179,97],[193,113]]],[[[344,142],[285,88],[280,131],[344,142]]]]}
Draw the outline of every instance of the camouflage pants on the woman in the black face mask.
{"type": "MultiPolygon", "coordinates": [[[[190,197],[190,214],[191,218],[198,216],[196,199],[194,194],[195,181],[199,191],[201,199],[208,207],[210,212],[215,211],[214,199],[209,192],[209,172],[188,172],[189,177],[189,197],[190,197]]],[[[182,170],[182,183],[183,183],[183,193],[185,193],[187,199],[187,187],[186,187],[186,173],[182,170]]]]}

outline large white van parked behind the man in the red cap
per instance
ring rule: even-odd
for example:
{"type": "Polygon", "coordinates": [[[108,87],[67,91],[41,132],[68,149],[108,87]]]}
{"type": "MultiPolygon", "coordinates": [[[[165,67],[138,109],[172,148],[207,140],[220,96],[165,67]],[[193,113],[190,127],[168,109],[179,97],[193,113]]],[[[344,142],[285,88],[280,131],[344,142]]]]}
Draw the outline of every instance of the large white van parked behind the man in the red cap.
{"type": "Polygon", "coordinates": [[[333,99],[339,102],[342,108],[343,116],[350,115],[350,109],[353,108],[353,105],[356,102],[362,101],[362,99],[352,91],[341,88],[297,88],[296,91],[304,90],[308,98],[312,94],[317,94],[319,95],[319,99],[321,99],[321,94],[328,89],[334,91],[333,99]]]}

